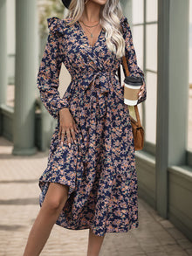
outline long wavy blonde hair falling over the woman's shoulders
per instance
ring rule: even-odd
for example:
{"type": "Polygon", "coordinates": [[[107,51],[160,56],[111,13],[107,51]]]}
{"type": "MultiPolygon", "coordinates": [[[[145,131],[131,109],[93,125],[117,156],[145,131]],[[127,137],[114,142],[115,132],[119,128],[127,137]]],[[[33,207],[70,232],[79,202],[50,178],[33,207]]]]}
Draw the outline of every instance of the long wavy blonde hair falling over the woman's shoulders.
{"type": "MultiPolygon", "coordinates": [[[[87,2],[87,1],[86,1],[87,2]]],[[[65,18],[72,18],[69,24],[81,17],[85,8],[85,0],[72,0],[65,18]]],[[[119,0],[107,0],[100,7],[99,23],[106,31],[106,46],[116,54],[117,59],[125,55],[125,40],[121,33],[120,18],[123,12],[119,0]]]]}

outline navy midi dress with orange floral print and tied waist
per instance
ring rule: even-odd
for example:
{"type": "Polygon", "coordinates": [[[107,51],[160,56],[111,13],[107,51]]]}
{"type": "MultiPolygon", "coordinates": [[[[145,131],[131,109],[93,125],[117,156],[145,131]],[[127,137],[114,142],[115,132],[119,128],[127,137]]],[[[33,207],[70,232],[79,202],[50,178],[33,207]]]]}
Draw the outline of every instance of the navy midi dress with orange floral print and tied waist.
{"type": "MultiPolygon", "coordinates": [[[[117,75],[122,60],[107,48],[104,28],[90,45],[79,21],[69,24],[71,19],[47,19],[49,34],[38,70],[40,98],[57,120],[47,166],[39,177],[39,204],[42,206],[50,183],[65,184],[69,192],[57,225],[72,230],[90,228],[98,236],[127,232],[139,225],[138,184],[130,115],[117,75]],[[72,80],[60,97],[62,63],[72,80]],[[78,128],[77,143],[72,140],[71,148],[66,135],[63,146],[58,138],[63,107],[69,108],[78,128]]],[[[145,85],[140,104],[146,100],[146,83],[124,15],[120,28],[130,76],[141,77],[145,85]]]]}

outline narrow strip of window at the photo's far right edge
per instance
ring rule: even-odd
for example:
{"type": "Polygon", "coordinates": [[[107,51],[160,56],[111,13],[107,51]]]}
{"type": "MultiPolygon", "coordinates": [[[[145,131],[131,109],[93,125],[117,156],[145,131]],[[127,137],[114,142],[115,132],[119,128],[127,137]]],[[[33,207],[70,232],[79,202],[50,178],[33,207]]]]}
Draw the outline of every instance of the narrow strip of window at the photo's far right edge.
{"type": "Polygon", "coordinates": [[[192,0],[189,1],[189,128],[188,148],[192,150],[192,0]]]}

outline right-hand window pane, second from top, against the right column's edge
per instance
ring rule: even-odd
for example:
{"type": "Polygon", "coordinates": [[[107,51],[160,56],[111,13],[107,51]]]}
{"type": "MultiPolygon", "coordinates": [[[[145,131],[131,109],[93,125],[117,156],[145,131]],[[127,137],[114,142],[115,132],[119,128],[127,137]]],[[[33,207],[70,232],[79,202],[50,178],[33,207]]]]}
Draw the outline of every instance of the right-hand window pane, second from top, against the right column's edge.
{"type": "Polygon", "coordinates": [[[157,71],[157,24],[147,24],[147,59],[146,67],[152,71],[157,71]]]}

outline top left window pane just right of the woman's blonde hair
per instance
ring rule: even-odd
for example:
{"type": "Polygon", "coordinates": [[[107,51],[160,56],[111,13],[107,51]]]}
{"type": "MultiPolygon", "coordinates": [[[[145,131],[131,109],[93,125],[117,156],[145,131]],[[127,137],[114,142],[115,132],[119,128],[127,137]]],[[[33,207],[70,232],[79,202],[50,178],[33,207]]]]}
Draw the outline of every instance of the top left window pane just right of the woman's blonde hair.
{"type": "Polygon", "coordinates": [[[143,23],[143,0],[134,0],[133,4],[133,24],[143,23]]]}

